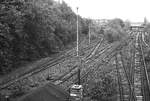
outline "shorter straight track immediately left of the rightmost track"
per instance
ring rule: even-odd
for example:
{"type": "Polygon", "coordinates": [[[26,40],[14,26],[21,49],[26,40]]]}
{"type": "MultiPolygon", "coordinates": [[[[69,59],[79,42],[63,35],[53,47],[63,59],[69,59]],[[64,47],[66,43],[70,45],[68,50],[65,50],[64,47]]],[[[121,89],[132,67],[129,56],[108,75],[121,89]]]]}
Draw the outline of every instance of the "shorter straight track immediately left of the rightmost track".
{"type": "MultiPolygon", "coordinates": [[[[134,41],[131,41],[129,45],[131,45],[134,41]]],[[[131,82],[131,79],[129,77],[129,70],[127,70],[127,67],[125,66],[124,62],[124,56],[123,56],[122,50],[117,52],[115,55],[115,64],[116,64],[116,76],[118,81],[118,89],[119,89],[119,99],[120,101],[135,101],[135,100],[129,100],[130,95],[132,94],[133,98],[134,91],[133,91],[133,85],[131,82]]]]}

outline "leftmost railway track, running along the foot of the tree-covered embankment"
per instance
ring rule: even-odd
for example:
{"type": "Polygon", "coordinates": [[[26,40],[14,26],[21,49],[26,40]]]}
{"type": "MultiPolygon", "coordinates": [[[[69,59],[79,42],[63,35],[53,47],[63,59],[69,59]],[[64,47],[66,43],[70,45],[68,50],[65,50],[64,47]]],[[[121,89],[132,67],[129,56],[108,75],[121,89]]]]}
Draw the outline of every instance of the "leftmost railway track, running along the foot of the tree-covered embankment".
{"type": "MultiPolygon", "coordinates": [[[[82,50],[89,50],[89,49],[94,47],[94,44],[95,43],[90,44],[90,46],[83,47],[82,50]]],[[[42,72],[48,68],[51,68],[52,66],[57,65],[58,63],[65,61],[65,59],[71,58],[74,52],[75,52],[75,48],[73,48],[71,51],[67,51],[65,54],[62,54],[58,58],[55,58],[53,60],[50,59],[50,60],[46,61],[44,64],[37,66],[37,68],[35,68],[35,69],[32,69],[28,72],[25,72],[25,73],[15,77],[15,78],[6,80],[5,82],[0,84],[0,90],[9,87],[11,84],[14,84],[15,82],[18,82],[18,81],[23,80],[27,77],[30,77],[30,76],[35,75],[37,73],[40,73],[40,72],[42,72]]]]}

